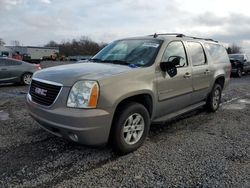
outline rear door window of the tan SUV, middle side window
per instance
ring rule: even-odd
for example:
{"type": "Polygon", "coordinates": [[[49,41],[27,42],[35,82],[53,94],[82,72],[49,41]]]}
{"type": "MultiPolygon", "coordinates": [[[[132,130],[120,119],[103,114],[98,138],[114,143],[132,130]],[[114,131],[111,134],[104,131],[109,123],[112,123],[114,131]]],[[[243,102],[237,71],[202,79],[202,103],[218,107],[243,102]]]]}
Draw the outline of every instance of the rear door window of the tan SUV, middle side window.
{"type": "Polygon", "coordinates": [[[189,53],[193,66],[199,66],[206,64],[206,57],[203,47],[198,42],[188,42],[189,53]]]}

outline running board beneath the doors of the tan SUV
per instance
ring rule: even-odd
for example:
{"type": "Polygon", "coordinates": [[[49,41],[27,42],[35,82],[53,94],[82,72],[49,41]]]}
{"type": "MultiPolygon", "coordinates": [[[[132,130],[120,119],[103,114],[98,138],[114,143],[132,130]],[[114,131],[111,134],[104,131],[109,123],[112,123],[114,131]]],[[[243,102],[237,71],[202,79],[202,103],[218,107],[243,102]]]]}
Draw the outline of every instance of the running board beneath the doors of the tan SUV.
{"type": "Polygon", "coordinates": [[[184,109],[182,109],[182,110],[179,110],[179,111],[177,111],[177,112],[173,112],[173,113],[171,113],[171,114],[167,114],[167,115],[165,115],[165,116],[156,118],[155,120],[152,121],[152,123],[160,123],[160,122],[164,122],[164,121],[173,119],[173,118],[175,118],[175,117],[177,117],[177,116],[180,116],[180,115],[182,115],[182,114],[185,114],[185,113],[187,113],[187,112],[189,112],[189,111],[192,111],[192,110],[194,110],[194,109],[196,109],[196,108],[200,108],[200,107],[204,106],[205,104],[206,104],[206,102],[205,102],[205,101],[202,101],[202,102],[200,102],[200,103],[197,103],[197,104],[188,106],[188,107],[186,107],[186,108],[184,108],[184,109]]]}

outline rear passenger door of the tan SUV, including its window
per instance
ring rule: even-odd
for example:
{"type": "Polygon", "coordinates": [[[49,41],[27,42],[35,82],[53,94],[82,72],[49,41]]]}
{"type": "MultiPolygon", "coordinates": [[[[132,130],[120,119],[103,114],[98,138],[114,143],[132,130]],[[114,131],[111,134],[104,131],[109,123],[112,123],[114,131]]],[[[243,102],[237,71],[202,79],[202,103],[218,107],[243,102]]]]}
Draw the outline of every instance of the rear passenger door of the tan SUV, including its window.
{"type": "Polygon", "coordinates": [[[212,79],[211,67],[208,64],[201,43],[188,41],[188,52],[192,63],[193,95],[192,102],[196,103],[206,98],[212,79]]]}

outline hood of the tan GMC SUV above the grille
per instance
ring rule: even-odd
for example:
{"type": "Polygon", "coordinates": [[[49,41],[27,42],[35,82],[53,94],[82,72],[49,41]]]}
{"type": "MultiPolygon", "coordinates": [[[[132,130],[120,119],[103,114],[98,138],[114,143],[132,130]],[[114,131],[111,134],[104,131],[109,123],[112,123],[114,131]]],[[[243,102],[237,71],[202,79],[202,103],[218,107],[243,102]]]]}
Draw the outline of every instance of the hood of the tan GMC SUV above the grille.
{"type": "Polygon", "coordinates": [[[133,68],[124,65],[88,62],[46,68],[36,72],[33,78],[72,86],[78,80],[100,80],[131,70],[133,68]]]}

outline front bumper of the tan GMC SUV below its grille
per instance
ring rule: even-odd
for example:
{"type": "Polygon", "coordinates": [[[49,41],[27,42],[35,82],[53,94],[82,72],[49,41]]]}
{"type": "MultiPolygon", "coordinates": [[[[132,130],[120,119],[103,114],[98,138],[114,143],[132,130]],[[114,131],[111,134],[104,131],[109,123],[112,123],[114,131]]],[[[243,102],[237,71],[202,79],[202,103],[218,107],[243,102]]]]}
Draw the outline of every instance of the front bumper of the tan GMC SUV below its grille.
{"type": "Polygon", "coordinates": [[[50,133],[84,145],[107,143],[113,113],[103,109],[75,109],[54,104],[46,108],[31,100],[28,94],[26,104],[30,115],[42,128],[50,133]]]}

